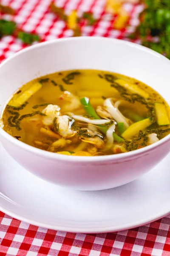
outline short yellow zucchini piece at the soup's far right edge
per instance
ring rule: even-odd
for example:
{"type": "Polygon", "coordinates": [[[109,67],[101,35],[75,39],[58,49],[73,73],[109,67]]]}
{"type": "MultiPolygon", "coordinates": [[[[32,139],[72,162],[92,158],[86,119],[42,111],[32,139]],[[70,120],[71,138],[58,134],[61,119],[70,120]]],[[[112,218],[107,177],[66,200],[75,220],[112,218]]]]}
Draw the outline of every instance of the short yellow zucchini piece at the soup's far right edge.
{"type": "Polygon", "coordinates": [[[166,107],[163,103],[155,102],[155,112],[158,125],[170,125],[166,107]]]}

